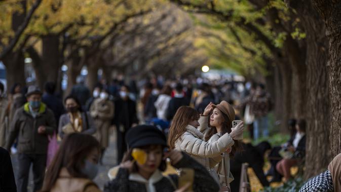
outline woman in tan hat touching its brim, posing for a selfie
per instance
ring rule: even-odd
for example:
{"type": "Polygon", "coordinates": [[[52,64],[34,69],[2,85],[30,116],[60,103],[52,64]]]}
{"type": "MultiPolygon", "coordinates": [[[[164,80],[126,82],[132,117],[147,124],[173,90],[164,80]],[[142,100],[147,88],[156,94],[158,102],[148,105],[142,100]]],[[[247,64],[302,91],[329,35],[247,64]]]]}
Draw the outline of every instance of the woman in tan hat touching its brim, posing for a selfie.
{"type": "MultiPolygon", "coordinates": [[[[199,130],[204,133],[204,139],[208,143],[214,143],[224,134],[235,135],[235,131],[232,132],[232,122],[235,120],[235,110],[226,101],[221,101],[219,104],[214,105],[209,103],[201,114],[199,119],[199,130]],[[209,117],[209,114],[211,116],[209,117]],[[208,119],[210,120],[208,122],[208,119]]],[[[237,125],[238,129],[243,127],[243,122],[237,125]]],[[[238,134],[243,132],[239,131],[238,134]]],[[[235,138],[235,136],[232,136],[235,138]]],[[[219,177],[219,184],[221,191],[231,191],[230,182],[234,180],[233,175],[230,172],[230,157],[235,155],[237,150],[241,150],[241,143],[234,139],[234,145],[232,148],[222,153],[222,160],[215,166],[215,171],[219,177]]],[[[216,158],[213,158],[216,159],[216,158]]]]}

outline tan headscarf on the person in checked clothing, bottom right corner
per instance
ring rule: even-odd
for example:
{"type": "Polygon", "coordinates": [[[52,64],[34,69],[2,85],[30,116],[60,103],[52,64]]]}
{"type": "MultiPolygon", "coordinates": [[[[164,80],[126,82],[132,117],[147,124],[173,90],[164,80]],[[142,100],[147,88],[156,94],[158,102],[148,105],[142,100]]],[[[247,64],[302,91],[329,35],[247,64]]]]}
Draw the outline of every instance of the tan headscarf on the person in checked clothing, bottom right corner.
{"type": "Polygon", "coordinates": [[[341,191],[341,153],[339,153],[328,166],[333,179],[334,191],[341,191]]]}

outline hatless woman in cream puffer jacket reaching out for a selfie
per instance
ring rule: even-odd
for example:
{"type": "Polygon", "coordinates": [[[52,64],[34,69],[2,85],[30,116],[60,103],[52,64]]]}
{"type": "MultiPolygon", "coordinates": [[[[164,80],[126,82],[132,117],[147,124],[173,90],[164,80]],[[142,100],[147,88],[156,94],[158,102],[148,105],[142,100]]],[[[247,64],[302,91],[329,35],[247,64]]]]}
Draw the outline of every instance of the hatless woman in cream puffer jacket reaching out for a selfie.
{"type": "Polygon", "coordinates": [[[238,125],[230,134],[221,135],[215,142],[205,141],[204,134],[197,128],[200,114],[188,106],[181,106],[175,113],[168,134],[168,145],[171,149],[185,151],[199,163],[204,165],[218,182],[218,176],[213,169],[221,159],[221,153],[230,148],[235,142],[233,138],[244,130],[238,125]]]}

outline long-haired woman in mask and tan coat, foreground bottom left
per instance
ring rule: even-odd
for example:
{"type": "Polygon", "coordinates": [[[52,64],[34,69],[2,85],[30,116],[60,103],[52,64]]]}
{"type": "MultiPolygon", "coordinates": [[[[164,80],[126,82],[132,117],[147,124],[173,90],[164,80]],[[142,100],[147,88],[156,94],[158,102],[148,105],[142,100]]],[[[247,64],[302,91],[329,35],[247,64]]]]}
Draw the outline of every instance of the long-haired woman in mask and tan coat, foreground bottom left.
{"type": "Polygon", "coordinates": [[[42,192],[100,192],[97,175],[100,144],[91,135],[71,133],[63,139],[49,166],[42,192]]]}

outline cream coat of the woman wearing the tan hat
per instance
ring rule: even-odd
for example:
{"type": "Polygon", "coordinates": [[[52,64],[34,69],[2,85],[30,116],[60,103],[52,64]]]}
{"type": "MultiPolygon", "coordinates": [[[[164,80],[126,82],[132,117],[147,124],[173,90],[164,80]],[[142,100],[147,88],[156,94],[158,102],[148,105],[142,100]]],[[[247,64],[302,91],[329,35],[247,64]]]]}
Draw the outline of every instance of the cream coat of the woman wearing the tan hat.
{"type": "MultiPolygon", "coordinates": [[[[211,128],[208,127],[208,117],[207,116],[200,116],[199,124],[200,124],[200,126],[199,126],[198,129],[201,132],[207,133],[207,131],[209,129],[211,129],[211,128]]],[[[229,135],[228,133],[226,133],[226,134],[229,135]]],[[[212,137],[209,138],[209,140],[207,142],[208,143],[217,142],[220,139],[221,136],[222,136],[221,134],[216,133],[216,134],[212,135],[212,137]]],[[[232,142],[234,144],[233,140],[232,140],[232,142]]],[[[229,147],[231,147],[232,145],[230,145],[229,147]]],[[[223,152],[222,155],[219,154],[215,158],[212,158],[211,162],[212,161],[214,161],[214,163],[216,164],[216,166],[214,167],[214,170],[218,174],[219,184],[221,186],[229,186],[229,184],[234,180],[234,177],[233,177],[232,173],[230,172],[230,156],[229,156],[229,154],[226,153],[226,152],[223,152]],[[225,179],[225,177],[226,177],[225,173],[229,174],[227,179],[225,179]],[[228,181],[228,183],[226,183],[226,180],[228,181]]],[[[211,164],[213,164],[213,163],[211,163],[211,164]]]]}

